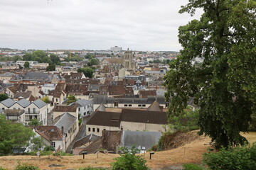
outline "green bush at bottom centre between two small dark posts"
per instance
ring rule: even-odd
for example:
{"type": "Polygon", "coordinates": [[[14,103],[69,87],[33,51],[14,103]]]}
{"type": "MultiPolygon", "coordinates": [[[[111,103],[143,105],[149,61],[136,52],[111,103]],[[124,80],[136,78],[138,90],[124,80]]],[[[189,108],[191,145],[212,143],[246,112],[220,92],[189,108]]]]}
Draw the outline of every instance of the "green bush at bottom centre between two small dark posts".
{"type": "Polygon", "coordinates": [[[122,147],[121,151],[121,157],[115,158],[116,162],[111,163],[113,170],[149,170],[146,166],[146,160],[142,156],[135,155],[139,149],[132,147],[129,150],[127,147],[122,147]]]}

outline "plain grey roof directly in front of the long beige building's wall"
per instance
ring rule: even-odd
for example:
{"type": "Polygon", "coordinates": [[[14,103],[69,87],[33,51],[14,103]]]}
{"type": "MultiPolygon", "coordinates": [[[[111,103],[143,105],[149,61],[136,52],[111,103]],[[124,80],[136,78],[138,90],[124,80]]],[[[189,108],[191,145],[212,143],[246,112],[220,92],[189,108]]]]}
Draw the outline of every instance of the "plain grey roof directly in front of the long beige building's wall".
{"type": "Polygon", "coordinates": [[[160,137],[161,132],[124,130],[122,133],[122,144],[129,148],[131,148],[133,145],[136,145],[137,147],[146,147],[146,149],[151,149],[153,145],[157,144],[160,137]]]}

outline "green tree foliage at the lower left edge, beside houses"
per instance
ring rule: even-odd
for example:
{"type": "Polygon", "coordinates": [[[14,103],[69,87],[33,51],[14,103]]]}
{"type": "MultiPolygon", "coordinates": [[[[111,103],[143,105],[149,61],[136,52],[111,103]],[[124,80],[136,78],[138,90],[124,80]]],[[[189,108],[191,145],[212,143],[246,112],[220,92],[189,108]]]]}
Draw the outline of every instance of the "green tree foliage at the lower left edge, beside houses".
{"type": "Polygon", "coordinates": [[[4,115],[0,115],[0,154],[9,154],[14,148],[28,145],[34,133],[21,123],[11,123],[4,115]]]}

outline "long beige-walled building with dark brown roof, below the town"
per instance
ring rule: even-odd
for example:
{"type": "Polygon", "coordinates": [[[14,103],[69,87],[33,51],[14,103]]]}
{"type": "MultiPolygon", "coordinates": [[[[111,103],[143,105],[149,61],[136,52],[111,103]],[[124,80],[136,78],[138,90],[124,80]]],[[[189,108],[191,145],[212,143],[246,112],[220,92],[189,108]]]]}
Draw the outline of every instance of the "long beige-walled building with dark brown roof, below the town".
{"type": "Polygon", "coordinates": [[[162,111],[122,109],[121,113],[96,111],[87,120],[86,134],[102,136],[102,130],[166,132],[167,116],[162,111]]]}

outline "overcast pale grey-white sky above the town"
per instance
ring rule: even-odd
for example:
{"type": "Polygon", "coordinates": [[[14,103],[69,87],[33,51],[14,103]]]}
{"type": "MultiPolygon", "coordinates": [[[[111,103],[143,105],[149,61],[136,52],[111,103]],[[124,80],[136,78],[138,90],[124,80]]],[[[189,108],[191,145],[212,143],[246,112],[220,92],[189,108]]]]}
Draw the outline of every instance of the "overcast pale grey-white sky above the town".
{"type": "Polygon", "coordinates": [[[0,0],[0,47],[181,50],[188,0],[0,0]]]}

